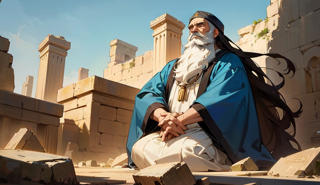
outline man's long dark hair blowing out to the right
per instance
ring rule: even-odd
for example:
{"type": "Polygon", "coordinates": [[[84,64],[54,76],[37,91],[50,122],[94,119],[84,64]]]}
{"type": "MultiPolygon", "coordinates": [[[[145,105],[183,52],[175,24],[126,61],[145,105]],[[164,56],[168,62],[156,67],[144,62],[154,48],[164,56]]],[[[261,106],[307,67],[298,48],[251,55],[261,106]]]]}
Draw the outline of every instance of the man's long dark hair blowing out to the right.
{"type": "MultiPolygon", "coordinates": [[[[260,54],[254,52],[244,52],[238,46],[238,48],[233,47],[230,44],[230,42],[233,42],[220,31],[218,36],[215,38],[215,42],[218,48],[228,49],[236,53],[242,60],[252,89],[262,143],[272,153],[272,156],[278,160],[281,157],[301,151],[298,141],[294,139],[296,133],[296,124],[294,118],[300,117],[302,113],[302,103],[299,100],[299,110],[292,112],[292,110],[286,104],[284,97],[279,92],[279,89],[284,86],[284,75],[287,75],[290,72],[293,72],[294,75],[296,70],[295,64],[291,60],[278,53],[260,54]],[[276,71],[283,79],[280,84],[273,84],[268,76],[262,71],[262,69],[251,59],[262,55],[266,55],[274,59],[281,58],[286,61],[286,70],[288,70],[287,73],[284,73],[283,75],[282,73],[276,71]],[[265,78],[271,83],[271,85],[265,81],[265,78]],[[283,110],[283,117],[281,119],[276,108],[283,110]],[[293,132],[291,132],[292,134],[285,131],[289,129],[291,125],[293,126],[293,132]],[[298,149],[295,149],[290,141],[295,143],[298,149]]],[[[278,61],[280,62],[280,60],[278,61]]]]}

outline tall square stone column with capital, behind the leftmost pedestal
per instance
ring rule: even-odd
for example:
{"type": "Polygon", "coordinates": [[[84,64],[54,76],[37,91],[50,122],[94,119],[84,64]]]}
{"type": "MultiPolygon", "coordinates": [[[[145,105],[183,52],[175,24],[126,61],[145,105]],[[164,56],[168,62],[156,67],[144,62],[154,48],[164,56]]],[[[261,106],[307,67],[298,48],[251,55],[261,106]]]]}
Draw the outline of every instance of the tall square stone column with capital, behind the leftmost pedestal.
{"type": "Polygon", "coordinates": [[[36,98],[56,102],[57,91],[62,88],[64,65],[71,43],[63,36],[48,35],[40,44],[40,66],[36,98]]]}

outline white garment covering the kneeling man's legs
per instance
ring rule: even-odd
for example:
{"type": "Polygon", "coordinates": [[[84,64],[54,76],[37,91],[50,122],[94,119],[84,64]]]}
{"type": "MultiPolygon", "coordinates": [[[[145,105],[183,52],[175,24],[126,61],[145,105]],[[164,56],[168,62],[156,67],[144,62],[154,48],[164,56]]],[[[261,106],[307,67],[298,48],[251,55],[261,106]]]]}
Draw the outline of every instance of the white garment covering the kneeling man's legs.
{"type": "Polygon", "coordinates": [[[213,146],[200,127],[165,142],[154,132],[138,140],[132,147],[132,161],[140,169],[163,163],[184,161],[191,172],[229,171],[228,156],[213,146]]]}

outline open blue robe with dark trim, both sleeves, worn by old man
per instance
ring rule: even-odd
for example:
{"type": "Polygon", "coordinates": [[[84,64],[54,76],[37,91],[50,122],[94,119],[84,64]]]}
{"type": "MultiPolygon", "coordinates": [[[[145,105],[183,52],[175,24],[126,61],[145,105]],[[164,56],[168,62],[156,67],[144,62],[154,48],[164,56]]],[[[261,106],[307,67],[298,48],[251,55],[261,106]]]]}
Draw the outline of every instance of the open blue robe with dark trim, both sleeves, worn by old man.
{"type": "MultiPolygon", "coordinates": [[[[136,95],[127,141],[129,164],[133,144],[144,135],[160,130],[158,123],[149,117],[159,107],[169,110],[171,86],[168,83],[173,83],[172,66],[176,60],[170,61],[136,95]]],[[[275,160],[261,142],[252,90],[241,59],[228,52],[211,68],[204,74],[207,78],[203,77],[207,81],[201,80],[204,92],[198,92],[191,105],[204,120],[198,124],[233,163],[251,157],[260,169],[268,169],[275,160]]]]}

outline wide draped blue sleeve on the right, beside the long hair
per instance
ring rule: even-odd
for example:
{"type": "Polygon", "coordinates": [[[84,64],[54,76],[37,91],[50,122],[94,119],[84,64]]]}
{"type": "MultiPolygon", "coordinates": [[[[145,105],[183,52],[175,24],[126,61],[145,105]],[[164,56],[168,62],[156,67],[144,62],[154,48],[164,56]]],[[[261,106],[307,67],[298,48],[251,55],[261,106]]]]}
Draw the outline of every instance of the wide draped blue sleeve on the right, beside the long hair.
{"type": "Polygon", "coordinates": [[[246,157],[251,157],[258,167],[275,162],[261,143],[251,87],[236,54],[221,57],[213,67],[208,87],[191,107],[203,118],[199,125],[204,132],[219,143],[234,163],[246,157]]]}

